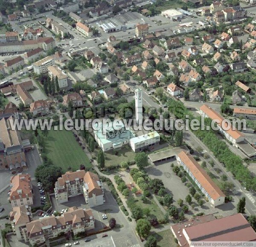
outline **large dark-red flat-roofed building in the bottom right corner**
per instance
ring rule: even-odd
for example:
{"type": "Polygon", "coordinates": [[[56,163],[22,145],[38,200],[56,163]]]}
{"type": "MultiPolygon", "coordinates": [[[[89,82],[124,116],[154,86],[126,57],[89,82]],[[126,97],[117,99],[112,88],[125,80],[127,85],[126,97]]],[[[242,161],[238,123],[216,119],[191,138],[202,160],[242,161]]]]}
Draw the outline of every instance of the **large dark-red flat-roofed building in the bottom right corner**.
{"type": "Polygon", "coordinates": [[[256,241],[256,232],[242,214],[216,219],[213,215],[191,218],[171,226],[171,230],[180,246],[203,246],[209,242],[212,246],[223,243],[244,242],[249,245],[256,241]],[[193,242],[198,242],[197,245],[193,242]]]}

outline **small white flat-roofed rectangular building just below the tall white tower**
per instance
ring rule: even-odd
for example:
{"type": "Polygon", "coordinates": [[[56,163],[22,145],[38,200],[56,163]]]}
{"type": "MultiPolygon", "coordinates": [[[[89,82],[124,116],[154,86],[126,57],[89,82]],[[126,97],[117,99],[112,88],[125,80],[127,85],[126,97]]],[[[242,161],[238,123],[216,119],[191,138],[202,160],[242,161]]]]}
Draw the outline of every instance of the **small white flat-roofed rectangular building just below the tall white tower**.
{"type": "Polygon", "coordinates": [[[150,132],[148,134],[134,137],[130,139],[130,146],[134,152],[140,152],[147,148],[154,147],[154,145],[159,144],[160,142],[160,134],[157,131],[150,132]]]}

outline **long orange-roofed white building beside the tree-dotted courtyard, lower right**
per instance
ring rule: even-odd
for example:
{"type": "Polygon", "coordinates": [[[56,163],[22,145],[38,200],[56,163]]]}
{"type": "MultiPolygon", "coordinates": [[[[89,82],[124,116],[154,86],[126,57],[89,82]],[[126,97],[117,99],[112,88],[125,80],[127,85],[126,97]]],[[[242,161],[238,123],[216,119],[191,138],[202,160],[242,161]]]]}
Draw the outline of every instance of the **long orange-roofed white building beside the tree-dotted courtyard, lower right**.
{"type": "Polygon", "coordinates": [[[183,167],[187,174],[189,174],[212,206],[219,206],[225,203],[224,193],[212,181],[206,171],[201,168],[192,155],[181,151],[176,158],[177,162],[183,167]]]}

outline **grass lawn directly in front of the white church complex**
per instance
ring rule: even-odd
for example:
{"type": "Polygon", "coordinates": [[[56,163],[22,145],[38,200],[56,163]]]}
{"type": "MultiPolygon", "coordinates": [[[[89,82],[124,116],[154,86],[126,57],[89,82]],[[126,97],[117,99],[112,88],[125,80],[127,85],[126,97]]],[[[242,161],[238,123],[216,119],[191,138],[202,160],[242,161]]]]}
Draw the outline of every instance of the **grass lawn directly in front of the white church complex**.
{"type": "MultiPolygon", "coordinates": [[[[135,157],[134,151],[131,150],[129,145],[125,145],[121,149],[115,149],[117,151],[117,155],[114,154],[114,151],[107,151],[104,153],[105,157],[105,166],[118,165],[122,161],[133,161],[135,157]]],[[[99,152],[99,148],[95,149],[94,154],[97,157],[99,152]]]]}

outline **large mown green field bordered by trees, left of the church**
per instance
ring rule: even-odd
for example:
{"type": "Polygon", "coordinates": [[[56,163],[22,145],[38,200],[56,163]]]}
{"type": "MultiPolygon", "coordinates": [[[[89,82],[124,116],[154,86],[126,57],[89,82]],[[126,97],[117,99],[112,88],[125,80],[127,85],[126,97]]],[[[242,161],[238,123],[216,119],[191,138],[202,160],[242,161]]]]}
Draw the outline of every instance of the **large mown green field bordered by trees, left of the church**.
{"type": "Polygon", "coordinates": [[[80,164],[90,167],[90,160],[79,146],[72,131],[49,131],[46,145],[47,157],[64,171],[69,166],[79,169],[80,164]]]}

